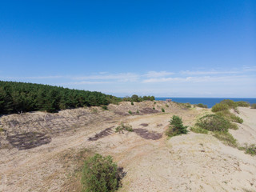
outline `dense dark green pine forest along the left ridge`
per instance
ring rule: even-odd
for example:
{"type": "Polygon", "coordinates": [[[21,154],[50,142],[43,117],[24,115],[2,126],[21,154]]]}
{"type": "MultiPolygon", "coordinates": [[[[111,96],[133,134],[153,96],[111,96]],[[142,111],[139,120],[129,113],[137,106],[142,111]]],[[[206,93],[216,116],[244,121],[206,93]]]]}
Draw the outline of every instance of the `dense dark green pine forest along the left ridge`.
{"type": "Polygon", "coordinates": [[[121,98],[100,92],[70,90],[25,82],[0,81],[0,114],[42,110],[57,112],[82,106],[102,106],[121,98]]]}

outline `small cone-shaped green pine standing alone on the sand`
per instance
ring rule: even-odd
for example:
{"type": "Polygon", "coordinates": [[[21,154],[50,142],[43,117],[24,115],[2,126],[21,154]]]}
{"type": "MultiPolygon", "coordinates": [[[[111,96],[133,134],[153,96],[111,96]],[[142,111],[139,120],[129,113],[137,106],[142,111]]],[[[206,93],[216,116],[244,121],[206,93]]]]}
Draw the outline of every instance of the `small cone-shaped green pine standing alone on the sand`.
{"type": "Polygon", "coordinates": [[[188,132],[187,127],[188,126],[183,126],[182,118],[174,115],[170,119],[170,126],[166,131],[166,135],[169,137],[173,137],[179,134],[187,134],[188,132]]]}

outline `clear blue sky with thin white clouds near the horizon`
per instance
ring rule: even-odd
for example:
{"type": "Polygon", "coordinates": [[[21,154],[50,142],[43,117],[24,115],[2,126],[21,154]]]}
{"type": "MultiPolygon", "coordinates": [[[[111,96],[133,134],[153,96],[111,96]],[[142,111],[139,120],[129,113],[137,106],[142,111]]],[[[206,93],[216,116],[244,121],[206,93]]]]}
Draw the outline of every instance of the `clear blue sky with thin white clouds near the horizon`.
{"type": "Polygon", "coordinates": [[[256,97],[256,1],[6,1],[0,79],[106,94],[256,97]]]}

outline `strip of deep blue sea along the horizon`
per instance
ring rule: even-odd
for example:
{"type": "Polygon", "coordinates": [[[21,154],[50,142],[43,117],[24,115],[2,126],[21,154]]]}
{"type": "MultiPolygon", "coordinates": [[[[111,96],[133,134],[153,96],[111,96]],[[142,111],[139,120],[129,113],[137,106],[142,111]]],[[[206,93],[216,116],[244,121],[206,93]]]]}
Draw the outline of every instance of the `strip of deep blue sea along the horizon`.
{"type": "MultiPolygon", "coordinates": [[[[167,98],[155,98],[157,101],[165,101],[167,98]]],[[[189,102],[190,104],[198,104],[202,103],[204,105],[207,105],[209,108],[214,106],[216,103],[221,102],[223,99],[231,99],[234,102],[238,101],[244,101],[244,102],[250,102],[256,103],[256,98],[169,98],[173,102],[189,102]]]]}

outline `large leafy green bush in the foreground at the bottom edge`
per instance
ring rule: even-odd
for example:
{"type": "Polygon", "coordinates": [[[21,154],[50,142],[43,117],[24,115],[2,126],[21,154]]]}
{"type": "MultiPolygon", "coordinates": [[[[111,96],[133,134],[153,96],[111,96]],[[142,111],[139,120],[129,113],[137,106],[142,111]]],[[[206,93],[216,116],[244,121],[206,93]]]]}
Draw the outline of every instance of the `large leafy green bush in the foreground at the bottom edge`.
{"type": "Polygon", "coordinates": [[[118,190],[118,166],[110,156],[95,154],[82,170],[82,191],[108,192],[118,190]]]}

